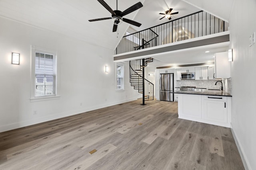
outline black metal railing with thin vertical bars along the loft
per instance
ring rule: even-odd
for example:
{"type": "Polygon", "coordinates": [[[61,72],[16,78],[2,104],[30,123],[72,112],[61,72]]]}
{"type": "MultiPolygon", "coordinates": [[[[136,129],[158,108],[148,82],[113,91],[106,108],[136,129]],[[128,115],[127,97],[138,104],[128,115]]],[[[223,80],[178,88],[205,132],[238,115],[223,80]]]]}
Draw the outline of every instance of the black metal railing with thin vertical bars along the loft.
{"type": "Polygon", "coordinates": [[[228,23],[199,11],[122,37],[115,54],[136,51],[228,30],[228,23]]]}

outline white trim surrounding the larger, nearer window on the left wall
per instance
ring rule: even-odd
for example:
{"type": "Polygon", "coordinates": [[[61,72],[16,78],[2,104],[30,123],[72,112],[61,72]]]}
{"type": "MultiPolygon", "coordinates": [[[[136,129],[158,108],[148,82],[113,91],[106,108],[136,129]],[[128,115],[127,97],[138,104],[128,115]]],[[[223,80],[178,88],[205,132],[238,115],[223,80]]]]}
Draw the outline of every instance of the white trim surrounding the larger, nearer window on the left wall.
{"type": "Polygon", "coordinates": [[[59,71],[59,57],[58,51],[53,49],[47,49],[43,47],[37,47],[31,45],[31,78],[30,78],[30,102],[38,102],[45,100],[55,100],[60,98],[60,71],[59,71]],[[52,96],[35,96],[35,82],[36,82],[36,74],[35,74],[35,60],[36,60],[36,51],[42,53],[53,54],[56,57],[56,95],[52,96]]]}

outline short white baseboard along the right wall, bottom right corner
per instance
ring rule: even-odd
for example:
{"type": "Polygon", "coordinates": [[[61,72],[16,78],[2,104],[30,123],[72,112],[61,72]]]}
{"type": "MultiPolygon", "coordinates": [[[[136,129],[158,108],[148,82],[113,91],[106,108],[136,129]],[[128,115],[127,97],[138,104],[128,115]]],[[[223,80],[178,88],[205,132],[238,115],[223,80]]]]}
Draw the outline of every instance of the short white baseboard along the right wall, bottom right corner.
{"type": "Polygon", "coordinates": [[[240,146],[242,146],[242,145],[240,145],[240,141],[239,141],[239,139],[237,138],[236,131],[234,131],[234,129],[233,129],[233,127],[232,127],[232,123],[230,123],[230,129],[231,129],[231,132],[232,132],[233,137],[234,137],[234,139],[235,139],[236,146],[237,146],[237,149],[238,149],[239,154],[240,154],[240,156],[241,156],[242,162],[243,162],[243,164],[244,164],[244,168],[245,168],[246,170],[252,170],[252,168],[250,167],[250,164],[249,164],[249,162],[248,162],[248,159],[246,158],[246,154],[244,153],[244,149],[243,149],[242,147],[240,147],[240,146]]]}

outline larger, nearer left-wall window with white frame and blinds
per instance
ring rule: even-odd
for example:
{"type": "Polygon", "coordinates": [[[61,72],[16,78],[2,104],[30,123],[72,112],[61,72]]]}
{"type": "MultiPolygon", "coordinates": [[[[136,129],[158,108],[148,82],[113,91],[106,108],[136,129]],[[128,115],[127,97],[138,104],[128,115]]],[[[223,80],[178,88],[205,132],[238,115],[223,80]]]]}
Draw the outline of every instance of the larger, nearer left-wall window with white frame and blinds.
{"type": "Polygon", "coordinates": [[[31,101],[53,99],[58,94],[57,52],[41,49],[32,47],[31,101]]]}

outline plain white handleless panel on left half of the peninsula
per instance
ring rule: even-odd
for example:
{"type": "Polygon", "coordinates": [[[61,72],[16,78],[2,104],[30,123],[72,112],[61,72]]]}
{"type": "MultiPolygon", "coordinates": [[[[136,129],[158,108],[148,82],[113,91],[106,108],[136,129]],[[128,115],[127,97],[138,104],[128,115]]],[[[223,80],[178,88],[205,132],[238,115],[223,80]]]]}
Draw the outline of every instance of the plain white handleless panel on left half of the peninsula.
{"type": "Polygon", "coordinates": [[[201,95],[179,94],[178,115],[181,119],[201,119],[201,95]]]}

